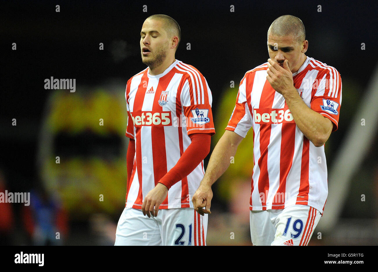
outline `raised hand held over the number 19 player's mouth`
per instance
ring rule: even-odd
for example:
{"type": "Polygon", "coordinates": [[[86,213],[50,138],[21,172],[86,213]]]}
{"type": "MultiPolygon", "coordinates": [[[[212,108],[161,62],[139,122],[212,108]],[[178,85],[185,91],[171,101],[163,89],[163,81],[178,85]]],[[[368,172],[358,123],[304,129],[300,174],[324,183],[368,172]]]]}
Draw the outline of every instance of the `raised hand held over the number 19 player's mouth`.
{"type": "Polygon", "coordinates": [[[266,79],[277,92],[285,96],[292,92],[294,88],[293,73],[287,64],[287,59],[283,61],[283,68],[275,61],[268,59],[268,69],[266,79]]]}

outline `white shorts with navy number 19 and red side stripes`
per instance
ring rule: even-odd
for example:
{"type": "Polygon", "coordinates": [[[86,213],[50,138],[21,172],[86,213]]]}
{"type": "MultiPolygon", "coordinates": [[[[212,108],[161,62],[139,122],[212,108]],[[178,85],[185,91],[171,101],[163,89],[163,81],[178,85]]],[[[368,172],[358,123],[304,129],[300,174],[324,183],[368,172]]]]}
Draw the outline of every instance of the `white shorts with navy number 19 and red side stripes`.
{"type": "Polygon", "coordinates": [[[320,217],[317,209],[306,205],[251,211],[249,223],[252,244],[307,245],[320,217]]]}

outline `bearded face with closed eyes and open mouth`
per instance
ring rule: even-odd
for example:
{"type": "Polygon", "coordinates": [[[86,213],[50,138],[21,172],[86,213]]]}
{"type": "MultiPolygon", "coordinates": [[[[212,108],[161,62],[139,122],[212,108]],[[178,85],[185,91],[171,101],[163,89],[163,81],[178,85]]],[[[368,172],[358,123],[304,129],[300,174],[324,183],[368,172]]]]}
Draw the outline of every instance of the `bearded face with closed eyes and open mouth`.
{"type": "Polygon", "coordinates": [[[144,21],[140,45],[144,64],[153,68],[163,63],[169,50],[169,39],[161,20],[144,21]]]}

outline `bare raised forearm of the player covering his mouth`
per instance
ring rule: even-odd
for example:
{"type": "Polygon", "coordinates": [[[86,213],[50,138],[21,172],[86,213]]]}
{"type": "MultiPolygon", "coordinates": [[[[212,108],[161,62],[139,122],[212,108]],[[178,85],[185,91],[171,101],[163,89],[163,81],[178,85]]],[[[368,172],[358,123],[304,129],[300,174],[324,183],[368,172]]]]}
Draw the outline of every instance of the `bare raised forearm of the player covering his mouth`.
{"type": "Polygon", "coordinates": [[[331,134],[332,122],[310,109],[296,90],[287,92],[284,97],[297,127],[304,136],[316,147],[324,145],[331,134]]]}

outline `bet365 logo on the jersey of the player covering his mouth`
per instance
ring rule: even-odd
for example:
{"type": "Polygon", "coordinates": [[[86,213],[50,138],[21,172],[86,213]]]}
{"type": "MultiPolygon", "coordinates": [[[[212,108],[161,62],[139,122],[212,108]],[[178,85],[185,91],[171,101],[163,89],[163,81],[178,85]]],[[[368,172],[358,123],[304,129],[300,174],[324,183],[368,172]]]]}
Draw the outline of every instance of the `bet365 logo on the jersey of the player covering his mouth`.
{"type": "Polygon", "coordinates": [[[294,118],[290,113],[290,109],[254,109],[253,118],[256,124],[280,124],[280,123],[295,123],[294,118]]]}

